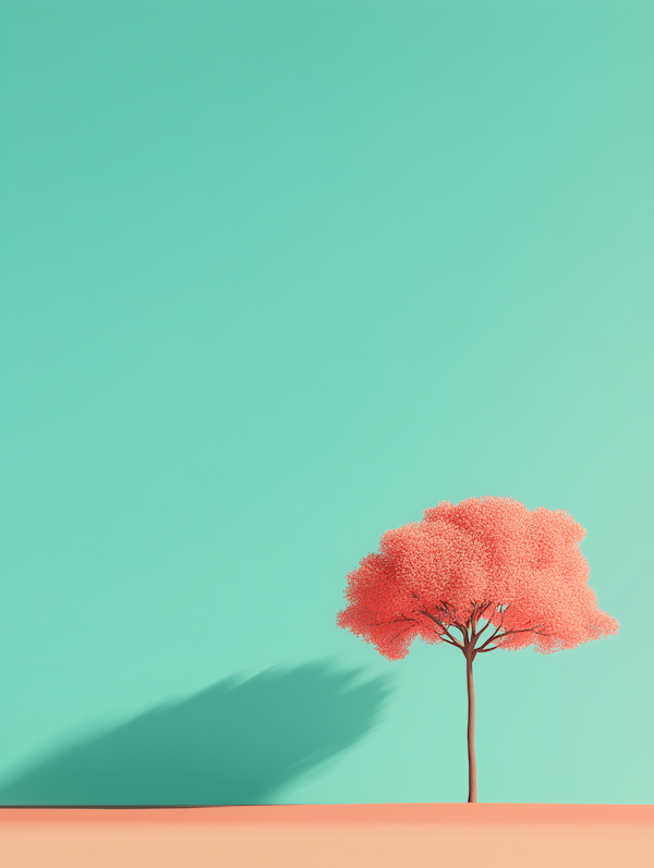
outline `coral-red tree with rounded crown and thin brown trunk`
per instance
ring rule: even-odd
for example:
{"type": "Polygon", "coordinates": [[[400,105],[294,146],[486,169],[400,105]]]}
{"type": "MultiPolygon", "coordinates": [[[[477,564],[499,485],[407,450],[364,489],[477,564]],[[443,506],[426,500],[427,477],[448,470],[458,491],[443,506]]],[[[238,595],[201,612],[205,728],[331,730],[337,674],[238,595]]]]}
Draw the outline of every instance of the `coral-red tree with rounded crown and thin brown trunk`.
{"type": "Polygon", "coordinates": [[[533,512],[509,498],[443,501],[382,537],[379,551],[348,574],[337,625],[388,660],[413,639],[450,645],[465,658],[468,802],[476,802],[474,684],[479,653],[533,645],[541,653],[618,632],[597,607],[579,543],[581,525],[562,510],[533,512]]]}

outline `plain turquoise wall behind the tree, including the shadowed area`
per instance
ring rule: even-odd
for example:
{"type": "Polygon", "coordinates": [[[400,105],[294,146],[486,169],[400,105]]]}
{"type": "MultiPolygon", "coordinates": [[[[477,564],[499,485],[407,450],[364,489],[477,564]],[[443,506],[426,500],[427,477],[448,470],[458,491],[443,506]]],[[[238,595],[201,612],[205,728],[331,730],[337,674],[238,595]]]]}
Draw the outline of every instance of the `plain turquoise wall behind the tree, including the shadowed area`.
{"type": "Polygon", "coordinates": [[[476,665],[480,800],[651,803],[654,5],[3,2],[0,802],[461,802],[335,627],[439,500],[619,636],[476,665]]]}

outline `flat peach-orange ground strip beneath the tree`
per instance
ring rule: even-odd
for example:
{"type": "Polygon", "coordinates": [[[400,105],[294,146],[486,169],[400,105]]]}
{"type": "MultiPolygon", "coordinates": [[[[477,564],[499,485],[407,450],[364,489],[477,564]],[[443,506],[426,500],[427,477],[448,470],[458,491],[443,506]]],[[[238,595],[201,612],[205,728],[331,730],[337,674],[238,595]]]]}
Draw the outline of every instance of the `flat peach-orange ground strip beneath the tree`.
{"type": "Polygon", "coordinates": [[[3,868],[386,868],[471,859],[482,868],[653,868],[654,806],[0,809],[3,868]]]}

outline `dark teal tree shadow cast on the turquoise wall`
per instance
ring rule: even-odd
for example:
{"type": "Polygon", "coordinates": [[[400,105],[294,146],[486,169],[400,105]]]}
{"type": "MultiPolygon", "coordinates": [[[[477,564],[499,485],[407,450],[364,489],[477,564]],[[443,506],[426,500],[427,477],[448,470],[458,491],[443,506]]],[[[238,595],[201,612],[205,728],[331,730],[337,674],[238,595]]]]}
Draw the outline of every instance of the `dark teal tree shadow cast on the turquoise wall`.
{"type": "Polygon", "coordinates": [[[328,662],[232,676],[0,785],[3,805],[262,805],[376,724],[387,677],[328,662]]]}

